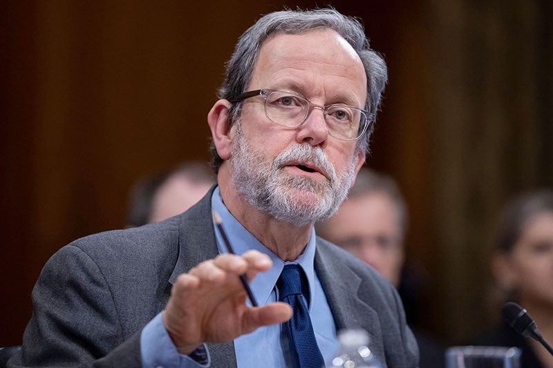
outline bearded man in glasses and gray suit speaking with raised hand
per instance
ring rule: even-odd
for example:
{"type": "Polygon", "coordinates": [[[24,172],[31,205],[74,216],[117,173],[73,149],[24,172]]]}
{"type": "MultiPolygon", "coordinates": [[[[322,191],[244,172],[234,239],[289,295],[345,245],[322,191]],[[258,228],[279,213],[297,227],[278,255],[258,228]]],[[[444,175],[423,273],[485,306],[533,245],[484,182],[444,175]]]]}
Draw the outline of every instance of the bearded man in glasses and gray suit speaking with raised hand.
{"type": "Polygon", "coordinates": [[[360,328],[382,365],[415,367],[393,286],[313,228],[364,162],[385,83],[357,21],[329,9],[259,19],[208,114],[218,186],[182,215],[54,255],[14,365],[321,367],[337,331],[360,328]]]}

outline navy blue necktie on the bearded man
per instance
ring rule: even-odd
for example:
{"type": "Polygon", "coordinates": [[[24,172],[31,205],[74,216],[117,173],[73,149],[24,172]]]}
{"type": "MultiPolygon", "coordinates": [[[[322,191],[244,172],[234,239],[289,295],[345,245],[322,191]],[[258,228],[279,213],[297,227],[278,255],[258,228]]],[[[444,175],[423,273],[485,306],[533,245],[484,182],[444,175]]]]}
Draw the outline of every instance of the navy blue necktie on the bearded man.
{"type": "Polygon", "coordinates": [[[302,297],[302,284],[305,284],[307,294],[307,280],[299,266],[297,264],[284,266],[277,287],[279,300],[290,304],[294,311],[292,318],[283,323],[283,329],[290,342],[288,344],[289,358],[292,360],[290,364],[300,368],[321,368],[324,365],[324,359],[317,346],[309,310],[302,297]]]}

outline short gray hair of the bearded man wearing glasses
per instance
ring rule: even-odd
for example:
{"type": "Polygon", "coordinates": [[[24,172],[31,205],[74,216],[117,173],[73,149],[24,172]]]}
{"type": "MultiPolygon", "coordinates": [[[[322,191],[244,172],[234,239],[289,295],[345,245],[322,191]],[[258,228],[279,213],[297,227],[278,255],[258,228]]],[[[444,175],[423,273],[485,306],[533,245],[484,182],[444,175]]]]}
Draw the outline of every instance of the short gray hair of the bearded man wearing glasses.
{"type": "MultiPolygon", "coordinates": [[[[382,92],[388,79],[386,62],[378,52],[371,49],[365,36],[362,24],[353,17],[345,16],[332,8],[315,10],[282,10],[261,17],[248,28],[238,39],[232,57],[227,62],[225,80],[219,88],[218,97],[234,101],[238,95],[246,92],[250,83],[259,50],[263,42],[274,34],[298,35],[319,28],[335,30],[344,37],[362,60],[367,77],[366,110],[376,118],[382,99],[382,92]]],[[[229,109],[229,125],[232,126],[240,117],[241,103],[233,104],[229,109]]],[[[368,153],[368,141],[373,132],[373,125],[367,130],[364,139],[357,142],[357,151],[368,153]]],[[[213,168],[215,173],[223,164],[212,142],[213,168]]]]}

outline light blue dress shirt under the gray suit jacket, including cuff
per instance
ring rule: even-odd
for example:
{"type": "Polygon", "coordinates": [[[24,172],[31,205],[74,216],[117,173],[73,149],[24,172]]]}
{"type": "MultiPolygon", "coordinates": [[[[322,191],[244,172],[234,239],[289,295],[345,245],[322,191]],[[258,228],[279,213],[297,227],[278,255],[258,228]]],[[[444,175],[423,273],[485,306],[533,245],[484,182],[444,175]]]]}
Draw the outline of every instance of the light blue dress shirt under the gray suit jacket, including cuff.
{"type": "MultiPolygon", "coordinates": [[[[267,254],[273,265],[270,270],[258,273],[254,280],[250,282],[250,288],[259,305],[270,304],[278,300],[278,290],[275,287],[277,280],[285,264],[296,263],[306,273],[309,290],[310,306],[309,315],[315,331],[315,338],[324,360],[330,362],[336,356],[339,343],[336,337],[336,327],[332,312],[328,306],[323,288],[317,278],[313,262],[315,260],[315,230],[311,233],[311,238],[303,253],[294,262],[283,262],[272,251],[267,249],[259,240],[247,231],[244,226],[229,213],[223,200],[219,188],[216,188],[212,195],[212,208],[221,215],[223,229],[227,233],[227,238],[232,244],[234,253],[240,255],[250,249],[256,249],[261,253],[267,254]]],[[[215,226],[215,236],[219,253],[227,253],[223,244],[223,238],[215,226]]],[[[250,304],[250,300],[246,303],[250,304]]],[[[156,316],[149,324],[142,329],[140,336],[140,349],[142,354],[142,367],[208,367],[207,365],[198,365],[198,362],[188,356],[178,354],[165,331],[161,322],[161,313],[156,316]]],[[[236,351],[236,362],[238,368],[241,367],[285,367],[285,358],[281,345],[281,325],[272,325],[260,327],[252,333],[240,336],[234,339],[234,349],[236,351]]]]}

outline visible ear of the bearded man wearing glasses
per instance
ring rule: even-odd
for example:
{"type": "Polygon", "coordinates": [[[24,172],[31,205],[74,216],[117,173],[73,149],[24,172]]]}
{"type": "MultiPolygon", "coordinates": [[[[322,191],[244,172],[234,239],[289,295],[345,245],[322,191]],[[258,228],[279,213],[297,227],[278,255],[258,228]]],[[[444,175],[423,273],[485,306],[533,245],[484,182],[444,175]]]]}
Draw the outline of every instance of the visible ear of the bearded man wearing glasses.
{"type": "Polygon", "coordinates": [[[232,139],[230,137],[230,127],[228,113],[232,104],[226,99],[216,101],[212,109],[207,114],[207,123],[212,130],[213,142],[217,148],[217,154],[222,159],[229,159],[232,152],[232,139]]]}

